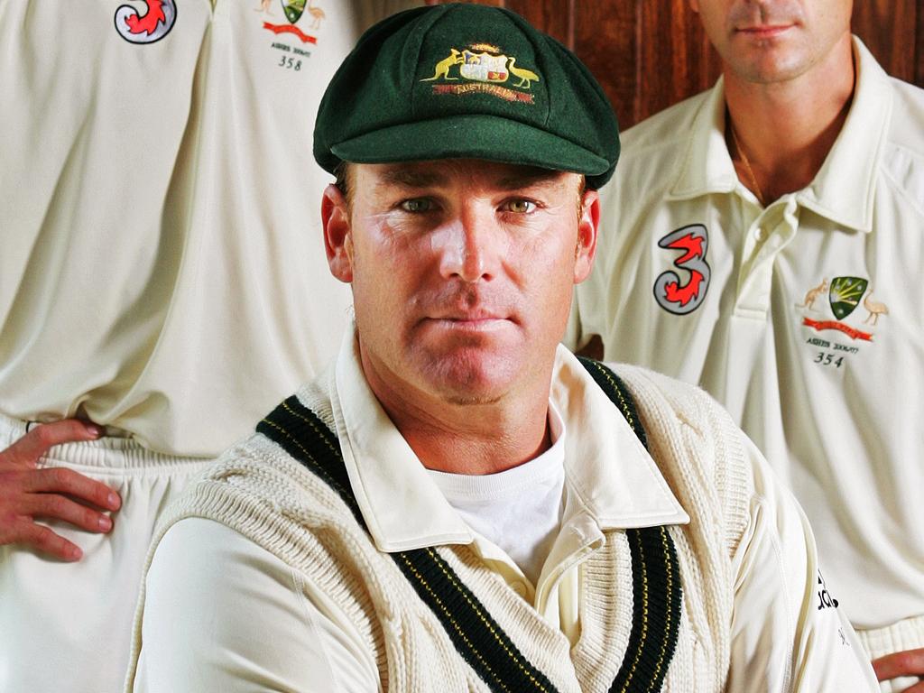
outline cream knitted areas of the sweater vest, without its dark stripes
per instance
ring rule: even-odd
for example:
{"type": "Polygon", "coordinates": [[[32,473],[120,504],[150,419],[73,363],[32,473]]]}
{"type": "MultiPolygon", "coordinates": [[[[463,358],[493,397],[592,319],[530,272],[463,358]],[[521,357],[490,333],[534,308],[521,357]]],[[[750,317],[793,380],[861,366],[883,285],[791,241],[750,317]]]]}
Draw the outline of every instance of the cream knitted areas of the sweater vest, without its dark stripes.
{"type": "MultiPolygon", "coordinates": [[[[735,580],[730,559],[747,526],[753,494],[740,433],[695,388],[635,367],[621,366],[617,372],[636,398],[651,456],[691,518],[687,526],[668,529],[683,604],[662,690],[717,693],[723,690],[729,661],[735,580]]],[[[316,381],[298,398],[333,429],[326,386],[316,381]]],[[[149,565],[166,530],[184,517],[206,517],[235,529],[323,590],[362,635],[384,691],[490,690],[340,496],[263,435],[229,449],[167,510],[155,531],[149,565]]],[[[608,691],[624,657],[632,664],[626,649],[633,602],[641,595],[633,594],[626,532],[608,532],[602,549],[579,568],[581,635],[574,648],[468,547],[443,546],[436,552],[554,689],[608,691]]],[[[645,597],[659,599],[657,594],[645,597]]],[[[143,604],[142,585],[133,663],[140,650],[143,604]]],[[[500,640],[497,646],[503,647],[500,640]]]]}

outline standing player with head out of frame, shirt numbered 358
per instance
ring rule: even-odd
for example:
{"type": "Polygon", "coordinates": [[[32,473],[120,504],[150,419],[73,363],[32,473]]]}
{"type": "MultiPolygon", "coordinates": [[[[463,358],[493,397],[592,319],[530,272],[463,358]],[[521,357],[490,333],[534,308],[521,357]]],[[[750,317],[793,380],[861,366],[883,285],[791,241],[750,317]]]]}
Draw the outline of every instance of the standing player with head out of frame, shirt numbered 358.
{"type": "Polygon", "coordinates": [[[0,690],[122,686],[156,517],[336,352],[311,122],[401,5],[0,0],[0,690]]]}

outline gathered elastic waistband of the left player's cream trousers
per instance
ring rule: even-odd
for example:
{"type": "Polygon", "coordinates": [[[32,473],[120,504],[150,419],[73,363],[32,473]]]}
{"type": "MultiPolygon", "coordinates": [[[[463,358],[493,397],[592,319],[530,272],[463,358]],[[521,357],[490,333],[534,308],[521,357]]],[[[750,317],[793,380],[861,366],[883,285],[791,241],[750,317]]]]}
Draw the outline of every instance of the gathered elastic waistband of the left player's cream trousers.
{"type": "MultiPolygon", "coordinates": [[[[28,421],[0,414],[0,450],[16,443],[26,434],[29,427],[28,421]]],[[[67,465],[100,469],[152,470],[199,466],[211,460],[211,457],[165,455],[149,450],[133,438],[103,435],[95,441],[55,445],[41,461],[52,467],[67,465]]]]}

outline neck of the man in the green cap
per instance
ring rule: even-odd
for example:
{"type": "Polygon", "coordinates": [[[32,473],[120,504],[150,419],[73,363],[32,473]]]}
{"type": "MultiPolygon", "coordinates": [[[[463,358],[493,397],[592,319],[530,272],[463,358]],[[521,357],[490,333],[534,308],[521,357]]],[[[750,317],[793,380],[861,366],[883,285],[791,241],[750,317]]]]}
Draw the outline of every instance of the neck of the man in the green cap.
{"type": "Polygon", "coordinates": [[[372,392],[428,469],[494,474],[529,462],[552,445],[551,369],[536,386],[492,401],[459,403],[383,377],[376,364],[362,361],[372,392]]]}

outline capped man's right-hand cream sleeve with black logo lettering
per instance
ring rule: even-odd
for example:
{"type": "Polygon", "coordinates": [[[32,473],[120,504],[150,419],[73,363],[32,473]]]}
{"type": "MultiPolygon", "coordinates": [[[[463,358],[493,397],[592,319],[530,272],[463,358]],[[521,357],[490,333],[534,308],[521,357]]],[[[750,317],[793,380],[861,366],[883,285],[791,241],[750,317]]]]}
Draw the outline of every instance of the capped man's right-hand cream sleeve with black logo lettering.
{"type": "Polygon", "coordinates": [[[755,496],[733,557],[729,693],[878,691],[869,658],[821,575],[795,498],[747,441],[755,496]]]}

